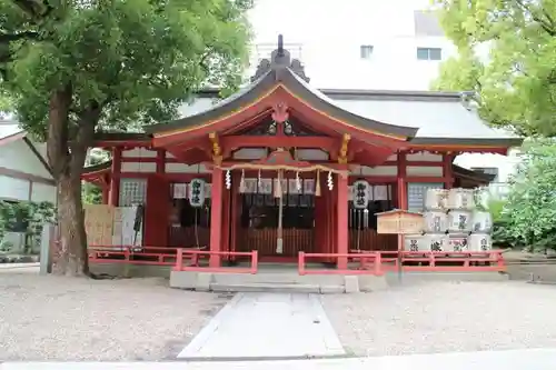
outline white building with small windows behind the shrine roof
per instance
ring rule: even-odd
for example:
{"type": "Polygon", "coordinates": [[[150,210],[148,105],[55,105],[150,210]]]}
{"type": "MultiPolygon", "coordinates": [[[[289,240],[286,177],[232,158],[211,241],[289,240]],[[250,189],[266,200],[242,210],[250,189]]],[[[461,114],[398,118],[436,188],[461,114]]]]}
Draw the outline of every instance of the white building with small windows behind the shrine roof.
{"type": "MultiPolygon", "coordinates": [[[[428,0],[256,0],[251,66],[270,54],[281,33],[316,88],[428,90],[457,50],[427,9],[428,0]]],[[[495,173],[493,190],[502,196],[506,187],[497,183],[518,162],[516,151],[456,158],[461,167],[495,173]]]]}

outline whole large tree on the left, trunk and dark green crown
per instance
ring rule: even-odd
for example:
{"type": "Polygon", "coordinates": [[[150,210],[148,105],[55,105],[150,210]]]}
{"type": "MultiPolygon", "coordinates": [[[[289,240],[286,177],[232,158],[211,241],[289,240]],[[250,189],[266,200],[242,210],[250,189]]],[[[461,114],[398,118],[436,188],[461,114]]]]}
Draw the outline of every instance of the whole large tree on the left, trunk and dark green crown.
{"type": "Polygon", "coordinates": [[[249,0],[0,0],[1,89],[48,144],[53,272],[88,274],[80,173],[93,134],[173,118],[203,83],[239,82],[249,0]]]}

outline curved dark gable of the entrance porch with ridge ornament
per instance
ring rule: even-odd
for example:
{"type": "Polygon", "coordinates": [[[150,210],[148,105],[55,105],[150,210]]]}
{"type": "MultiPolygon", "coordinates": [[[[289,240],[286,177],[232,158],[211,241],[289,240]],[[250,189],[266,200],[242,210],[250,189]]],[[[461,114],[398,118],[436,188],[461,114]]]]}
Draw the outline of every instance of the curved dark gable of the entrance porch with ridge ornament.
{"type": "Polygon", "coordinates": [[[342,124],[346,124],[357,130],[404,141],[417,133],[417,127],[397,126],[348,111],[320,91],[312,89],[306,82],[307,80],[300,62],[290,61],[289,52],[279,43],[278,49],[272,52],[271,60],[261,62],[256,79],[249,86],[199,113],[171,122],[148,126],[145,130],[156,137],[166,132],[190,131],[211,126],[252,107],[279,90],[285,92],[286,97],[294,98],[296,102],[301,102],[311,110],[331,117],[337,121],[339,132],[346,129],[342,129],[342,124]]]}

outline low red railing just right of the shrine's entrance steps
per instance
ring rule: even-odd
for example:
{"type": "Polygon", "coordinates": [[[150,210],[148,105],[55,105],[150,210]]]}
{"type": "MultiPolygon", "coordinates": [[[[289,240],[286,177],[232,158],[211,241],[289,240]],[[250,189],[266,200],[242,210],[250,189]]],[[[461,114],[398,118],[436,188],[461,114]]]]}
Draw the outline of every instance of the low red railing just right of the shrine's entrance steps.
{"type": "Polygon", "coordinates": [[[383,261],[380,252],[361,251],[358,253],[305,253],[298,254],[299,274],[376,274],[380,276],[383,271],[383,261]],[[339,260],[341,258],[349,261],[357,261],[355,269],[306,269],[306,260],[310,258],[330,258],[339,260]]]}

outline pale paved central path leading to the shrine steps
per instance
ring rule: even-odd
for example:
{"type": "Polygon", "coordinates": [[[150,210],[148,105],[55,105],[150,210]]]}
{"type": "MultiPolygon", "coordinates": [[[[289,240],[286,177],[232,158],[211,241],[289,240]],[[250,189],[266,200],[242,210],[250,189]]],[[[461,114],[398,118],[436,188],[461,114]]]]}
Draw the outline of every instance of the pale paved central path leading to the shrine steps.
{"type": "Polygon", "coordinates": [[[318,296],[238,293],[180,359],[291,359],[346,352],[318,296]]]}

